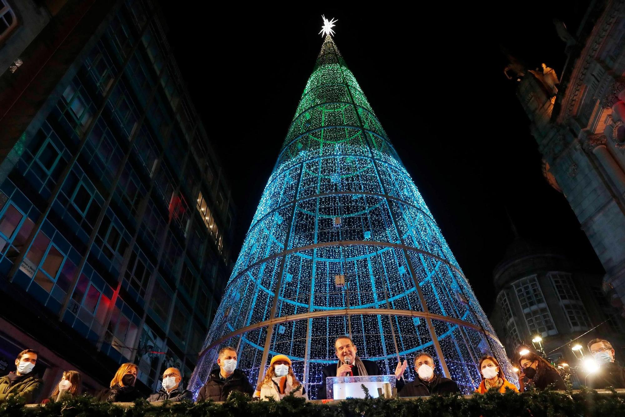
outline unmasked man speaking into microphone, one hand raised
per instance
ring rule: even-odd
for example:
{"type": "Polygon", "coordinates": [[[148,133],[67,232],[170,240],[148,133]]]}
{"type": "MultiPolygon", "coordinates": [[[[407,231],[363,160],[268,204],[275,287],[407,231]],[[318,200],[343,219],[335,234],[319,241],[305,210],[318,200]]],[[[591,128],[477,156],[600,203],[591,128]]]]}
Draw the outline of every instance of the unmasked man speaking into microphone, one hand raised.
{"type": "MultiPolygon", "coordinates": [[[[377,364],[372,361],[363,361],[356,356],[356,346],[349,336],[339,336],[334,341],[334,349],[336,349],[336,357],[339,358],[337,364],[329,364],[323,368],[323,377],[321,386],[317,391],[317,399],[326,399],[326,378],[329,376],[372,376],[380,375],[380,369],[377,364]]],[[[408,366],[407,361],[398,363],[395,369],[395,377],[397,378],[397,389],[404,386],[402,375],[408,366]]]]}

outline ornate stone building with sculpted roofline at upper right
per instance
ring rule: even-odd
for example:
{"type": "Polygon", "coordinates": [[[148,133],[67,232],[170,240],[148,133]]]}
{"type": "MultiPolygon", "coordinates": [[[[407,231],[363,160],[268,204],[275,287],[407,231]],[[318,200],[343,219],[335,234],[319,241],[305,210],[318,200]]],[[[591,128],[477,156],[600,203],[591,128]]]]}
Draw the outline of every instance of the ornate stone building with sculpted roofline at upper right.
{"type": "MultiPolygon", "coordinates": [[[[514,62],[506,75],[531,120],[544,174],[564,193],[606,275],[625,301],[625,3],[596,1],[576,33],[562,24],[567,61],[558,77],[514,62]]],[[[556,52],[556,51],[554,51],[556,52]]],[[[559,51],[558,51],[559,52],[559,51]]]]}

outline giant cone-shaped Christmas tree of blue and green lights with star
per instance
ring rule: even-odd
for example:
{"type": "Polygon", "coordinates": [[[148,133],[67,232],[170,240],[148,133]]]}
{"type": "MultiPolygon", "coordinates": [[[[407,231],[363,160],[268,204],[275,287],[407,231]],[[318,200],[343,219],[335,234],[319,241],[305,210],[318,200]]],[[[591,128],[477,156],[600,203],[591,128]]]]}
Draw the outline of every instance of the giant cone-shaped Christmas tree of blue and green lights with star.
{"type": "MultiPolygon", "coordinates": [[[[326,35],[189,383],[197,392],[232,346],[252,385],[275,354],[314,398],[334,339],[394,373],[398,356],[437,358],[469,393],[477,360],[499,359],[491,324],[410,175],[326,35]],[[342,286],[342,281],[346,284],[342,286]],[[337,285],[338,283],[338,285],[337,285]]],[[[398,92],[399,93],[399,92],[398,92]]],[[[412,366],[404,378],[413,379],[412,366]]]]}

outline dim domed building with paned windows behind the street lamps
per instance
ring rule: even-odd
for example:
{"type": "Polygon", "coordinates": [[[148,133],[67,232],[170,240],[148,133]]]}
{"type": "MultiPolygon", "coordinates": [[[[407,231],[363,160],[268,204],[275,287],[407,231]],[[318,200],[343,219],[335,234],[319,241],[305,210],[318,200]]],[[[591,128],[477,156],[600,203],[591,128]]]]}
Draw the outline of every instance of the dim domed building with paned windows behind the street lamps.
{"type": "MultiPolygon", "coordinates": [[[[556,250],[517,238],[494,269],[493,284],[497,302],[489,318],[513,360],[521,349],[542,346],[552,362],[575,369],[579,361],[571,348],[581,344],[587,354],[587,342],[597,337],[611,341],[617,359],[625,359],[625,325],[602,291],[601,274],[583,272],[556,250]],[[540,345],[532,342],[536,336],[540,345]]],[[[571,381],[578,386],[584,378],[580,368],[571,381]]]]}

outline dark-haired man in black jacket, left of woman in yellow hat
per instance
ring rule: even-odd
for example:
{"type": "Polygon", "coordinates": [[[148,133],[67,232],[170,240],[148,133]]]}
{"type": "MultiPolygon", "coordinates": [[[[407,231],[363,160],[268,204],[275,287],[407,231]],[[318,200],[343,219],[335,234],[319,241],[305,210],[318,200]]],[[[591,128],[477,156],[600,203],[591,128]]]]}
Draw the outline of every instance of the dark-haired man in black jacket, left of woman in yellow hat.
{"type": "Polygon", "coordinates": [[[208,377],[206,384],[197,394],[197,402],[226,401],[232,391],[241,391],[249,396],[254,394],[254,388],[249,383],[247,375],[236,369],[236,351],[230,347],[222,348],[217,355],[219,369],[215,369],[208,377]]]}

